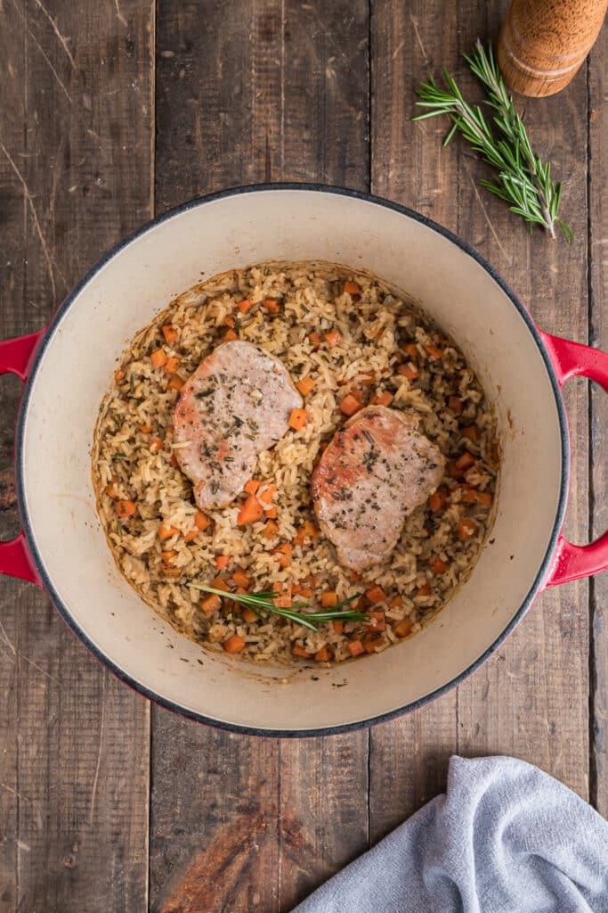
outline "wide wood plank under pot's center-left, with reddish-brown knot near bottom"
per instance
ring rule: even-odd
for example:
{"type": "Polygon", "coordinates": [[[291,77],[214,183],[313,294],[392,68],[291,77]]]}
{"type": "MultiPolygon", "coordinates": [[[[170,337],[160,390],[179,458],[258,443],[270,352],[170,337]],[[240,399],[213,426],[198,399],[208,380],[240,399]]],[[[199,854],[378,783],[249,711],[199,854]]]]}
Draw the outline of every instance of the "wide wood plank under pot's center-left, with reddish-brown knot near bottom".
{"type": "MultiPolygon", "coordinates": [[[[366,188],[367,4],[230,0],[208,6],[204,31],[199,15],[160,7],[160,208],[260,181],[366,188]]],[[[366,848],[366,732],[260,740],[155,708],[152,771],[155,910],[288,909],[366,848]]]]}

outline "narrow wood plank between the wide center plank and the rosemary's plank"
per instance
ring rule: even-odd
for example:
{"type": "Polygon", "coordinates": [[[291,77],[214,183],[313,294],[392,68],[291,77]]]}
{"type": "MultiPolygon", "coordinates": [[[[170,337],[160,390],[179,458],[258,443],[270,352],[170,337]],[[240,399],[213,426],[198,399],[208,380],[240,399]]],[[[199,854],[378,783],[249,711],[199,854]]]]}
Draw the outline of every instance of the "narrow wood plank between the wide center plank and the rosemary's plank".
{"type": "MultiPolygon", "coordinates": [[[[456,230],[458,161],[442,127],[410,121],[414,88],[456,56],[456,19],[440,4],[379,0],[372,17],[372,190],[456,230]]],[[[456,693],[370,732],[372,842],[445,786],[457,744],[456,693]]]]}

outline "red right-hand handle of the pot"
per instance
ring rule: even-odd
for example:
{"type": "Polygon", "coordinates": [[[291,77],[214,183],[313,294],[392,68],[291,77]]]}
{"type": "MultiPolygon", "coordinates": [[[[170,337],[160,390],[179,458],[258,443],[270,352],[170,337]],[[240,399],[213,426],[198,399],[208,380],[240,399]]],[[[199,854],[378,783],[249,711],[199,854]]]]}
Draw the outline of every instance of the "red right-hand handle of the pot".
{"type": "MultiPolygon", "coordinates": [[[[582,374],[599,383],[608,393],[608,352],[542,331],[541,336],[561,387],[570,377],[582,374]]],[[[582,577],[591,577],[607,569],[608,530],[589,545],[572,545],[572,542],[560,535],[544,585],[548,587],[581,580],[582,577]]]]}

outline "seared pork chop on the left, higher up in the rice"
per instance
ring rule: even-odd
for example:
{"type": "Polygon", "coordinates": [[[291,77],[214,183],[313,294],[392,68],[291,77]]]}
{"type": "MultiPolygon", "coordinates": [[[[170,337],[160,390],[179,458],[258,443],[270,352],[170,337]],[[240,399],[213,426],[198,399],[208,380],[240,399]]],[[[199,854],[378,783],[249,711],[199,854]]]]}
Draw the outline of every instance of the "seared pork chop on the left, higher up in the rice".
{"type": "Polygon", "coordinates": [[[286,368],[251,342],[223,342],[204,358],[173,407],[175,456],[201,509],[222,508],[251,479],[302,405],[286,368]]]}

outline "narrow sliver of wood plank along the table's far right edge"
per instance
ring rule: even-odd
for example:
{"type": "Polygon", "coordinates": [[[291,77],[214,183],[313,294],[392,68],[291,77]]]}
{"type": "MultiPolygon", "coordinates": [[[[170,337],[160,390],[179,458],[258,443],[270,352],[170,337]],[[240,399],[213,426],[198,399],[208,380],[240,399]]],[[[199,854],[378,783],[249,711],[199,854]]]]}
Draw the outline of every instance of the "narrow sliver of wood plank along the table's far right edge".
{"type": "MultiPolygon", "coordinates": [[[[608,351],[608,29],[603,28],[589,58],[589,278],[591,343],[608,351]]],[[[608,397],[592,387],[592,517],[591,533],[608,528],[608,397]]],[[[592,777],[591,801],[608,817],[608,574],[591,582],[592,777]]]]}

